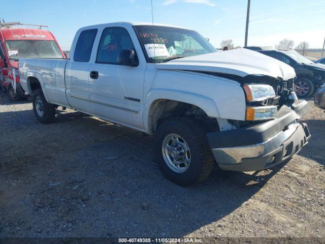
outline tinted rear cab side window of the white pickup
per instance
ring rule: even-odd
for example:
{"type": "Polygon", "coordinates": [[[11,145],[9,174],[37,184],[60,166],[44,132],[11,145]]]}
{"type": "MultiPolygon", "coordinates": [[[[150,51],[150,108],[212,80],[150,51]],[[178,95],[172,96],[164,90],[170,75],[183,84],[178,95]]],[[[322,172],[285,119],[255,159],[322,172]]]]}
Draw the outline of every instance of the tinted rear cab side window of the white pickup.
{"type": "Polygon", "coordinates": [[[73,55],[75,62],[89,62],[97,32],[98,29],[86,29],[80,33],[73,55]]]}

